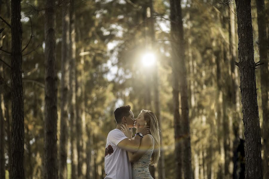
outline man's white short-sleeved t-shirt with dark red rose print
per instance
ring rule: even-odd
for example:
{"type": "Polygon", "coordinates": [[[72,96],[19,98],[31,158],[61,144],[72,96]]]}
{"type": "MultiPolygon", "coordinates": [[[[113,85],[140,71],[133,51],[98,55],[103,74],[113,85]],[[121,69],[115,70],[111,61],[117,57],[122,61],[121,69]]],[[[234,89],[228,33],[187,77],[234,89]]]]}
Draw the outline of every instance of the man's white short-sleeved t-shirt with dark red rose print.
{"type": "Polygon", "coordinates": [[[132,179],[132,165],[127,151],[117,145],[127,137],[120,129],[111,130],[106,139],[105,179],[132,179]]]}

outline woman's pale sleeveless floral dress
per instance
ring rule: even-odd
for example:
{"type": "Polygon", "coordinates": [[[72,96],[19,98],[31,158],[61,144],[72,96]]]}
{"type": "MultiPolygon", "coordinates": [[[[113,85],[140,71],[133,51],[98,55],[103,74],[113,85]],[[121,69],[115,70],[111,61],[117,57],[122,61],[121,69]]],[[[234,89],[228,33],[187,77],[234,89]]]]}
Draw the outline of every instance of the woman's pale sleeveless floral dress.
{"type": "MultiPolygon", "coordinates": [[[[150,136],[152,137],[152,135],[150,136]]],[[[152,147],[148,149],[146,153],[144,153],[144,155],[142,155],[142,157],[138,159],[138,161],[132,163],[132,179],[153,179],[149,173],[150,158],[154,149],[153,137],[152,140],[153,140],[152,147]]]]}

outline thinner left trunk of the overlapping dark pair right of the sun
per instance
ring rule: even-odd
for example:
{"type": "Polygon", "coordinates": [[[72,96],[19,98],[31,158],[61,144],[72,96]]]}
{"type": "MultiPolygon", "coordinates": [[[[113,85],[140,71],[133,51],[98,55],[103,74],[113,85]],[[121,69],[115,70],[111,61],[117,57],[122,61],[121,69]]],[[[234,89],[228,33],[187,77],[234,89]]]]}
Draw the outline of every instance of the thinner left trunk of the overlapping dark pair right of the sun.
{"type": "MultiPolygon", "coordinates": [[[[174,0],[170,0],[170,19],[171,19],[171,39],[172,41],[172,76],[173,76],[173,111],[175,127],[175,177],[182,178],[182,134],[181,121],[179,114],[179,54],[178,44],[180,43],[177,21],[177,7],[174,0]]],[[[196,168],[197,169],[197,168],[196,168]]]]}

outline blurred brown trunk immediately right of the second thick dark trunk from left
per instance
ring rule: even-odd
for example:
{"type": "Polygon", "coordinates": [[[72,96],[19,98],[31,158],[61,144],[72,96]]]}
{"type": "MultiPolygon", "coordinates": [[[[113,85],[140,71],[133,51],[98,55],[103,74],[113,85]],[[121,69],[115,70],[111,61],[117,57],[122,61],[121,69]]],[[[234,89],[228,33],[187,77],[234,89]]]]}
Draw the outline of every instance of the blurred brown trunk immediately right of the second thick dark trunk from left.
{"type": "Polygon", "coordinates": [[[69,90],[69,7],[62,9],[62,79],[61,79],[61,118],[60,118],[60,161],[59,177],[67,179],[67,142],[68,142],[68,95],[69,90]]]}

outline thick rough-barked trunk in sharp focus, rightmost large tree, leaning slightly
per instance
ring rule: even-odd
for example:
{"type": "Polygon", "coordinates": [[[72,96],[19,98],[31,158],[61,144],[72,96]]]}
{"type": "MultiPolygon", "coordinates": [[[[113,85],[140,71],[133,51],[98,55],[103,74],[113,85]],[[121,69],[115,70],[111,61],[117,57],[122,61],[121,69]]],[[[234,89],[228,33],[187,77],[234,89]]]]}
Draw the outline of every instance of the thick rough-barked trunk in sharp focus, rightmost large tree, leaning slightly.
{"type": "Polygon", "coordinates": [[[261,129],[257,104],[250,0],[236,0],[240,90],[245,135],[245,177],[262,179],[261,129]]]}

